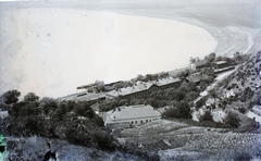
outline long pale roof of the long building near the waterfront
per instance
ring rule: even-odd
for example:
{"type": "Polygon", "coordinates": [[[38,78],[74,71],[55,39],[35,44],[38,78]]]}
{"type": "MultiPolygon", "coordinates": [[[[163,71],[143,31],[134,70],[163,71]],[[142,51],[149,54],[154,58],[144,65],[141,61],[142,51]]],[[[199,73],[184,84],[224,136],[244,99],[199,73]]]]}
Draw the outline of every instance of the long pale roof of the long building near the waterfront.
{"type": "Polygon", "coordinates": [[[173,78],[173,77],[167,77],[167,78],[161,78],[158,81],[151,81],[151,82],[137,82],[135,85],[130,87],[125,87],[125,88],[120,88],[120,89],[114,89],[112,91],[107,92],[108,96],[126,96],[129,94],[138,92],[138,91],[144,91],[149,89],[151,86],[157,85],[157,86],[164,86],[167,84],[181,82],[179,78],[173,78]]]}

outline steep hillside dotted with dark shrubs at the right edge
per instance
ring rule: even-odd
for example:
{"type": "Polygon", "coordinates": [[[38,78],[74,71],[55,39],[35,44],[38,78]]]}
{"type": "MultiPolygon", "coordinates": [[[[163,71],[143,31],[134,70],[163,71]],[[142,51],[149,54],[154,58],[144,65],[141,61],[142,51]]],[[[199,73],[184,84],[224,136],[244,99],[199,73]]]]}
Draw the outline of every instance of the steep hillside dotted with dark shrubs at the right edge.
{"type": "Polygon", "coordinates": [[[260,116],[261,51],[240,65],[235,73],[219,84],[216,90],[226,110],[234,109],[258,121],[260,116]],[[253,112],[254,114],[249,114],[253,112]]]}

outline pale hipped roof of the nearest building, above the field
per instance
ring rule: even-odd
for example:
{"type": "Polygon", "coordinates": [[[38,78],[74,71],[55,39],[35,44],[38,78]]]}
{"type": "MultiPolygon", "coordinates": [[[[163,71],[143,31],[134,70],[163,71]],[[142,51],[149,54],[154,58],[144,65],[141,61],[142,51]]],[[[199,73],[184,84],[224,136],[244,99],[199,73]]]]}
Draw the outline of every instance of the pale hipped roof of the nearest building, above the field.
{"type": "Polygon", "coordinates": [[[124,106],[107,112],[105,124],[141,117],[159,117],[161,113],[149,104],[124,106]]]}

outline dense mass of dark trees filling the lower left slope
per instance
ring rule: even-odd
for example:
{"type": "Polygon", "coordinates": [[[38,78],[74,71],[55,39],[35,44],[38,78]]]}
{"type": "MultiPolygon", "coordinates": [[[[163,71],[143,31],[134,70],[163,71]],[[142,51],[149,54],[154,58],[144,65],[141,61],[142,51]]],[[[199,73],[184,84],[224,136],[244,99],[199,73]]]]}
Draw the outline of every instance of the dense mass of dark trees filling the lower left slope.
{"type": "Polygon", "coordinates": [[[1,120],[0,133],[7,136],[45,136],[66,139],[72,144],[113,150],[114,138],[103,120],[87,102],[39,99],[29,92],[18,101],[17,90],[1,96],[9,116],[1,120]]]}

